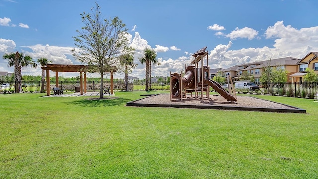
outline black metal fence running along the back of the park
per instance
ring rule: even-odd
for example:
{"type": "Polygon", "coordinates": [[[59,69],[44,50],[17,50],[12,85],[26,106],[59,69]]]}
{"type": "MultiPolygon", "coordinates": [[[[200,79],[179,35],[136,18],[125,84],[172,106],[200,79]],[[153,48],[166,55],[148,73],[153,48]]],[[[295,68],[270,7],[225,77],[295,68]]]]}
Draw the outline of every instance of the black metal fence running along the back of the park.
{"type": "MultiPolygon", "coordinates": [[[[281,83],[262,83],[256,82],[256,85],[259,86],[259,89],[251,89],[248,86],[236,88],[237,93],[249,93],[249,94],[258,94],[258,95],[273,95],[273,96],[286,96],[286,97],[301,97],[301,98],[318,98],[318,82],[281,82],[281,83]]],[[[41,81],[22,81],[21,82],[21,92],[22,93],[39,93],[41,91],[42,82],[41,81]]],[[[50,82],[50,90],[52,92],[53,87],[55,87],[55,81],[50,82]]],[[[79,92],[76,91],[76,87],[80,86],[80,82],[72,81],[59,81],[59,88],[65,92],[79,92]]],[[[110,86],[109,81],[103,83],[104,88],[107,89],[110,86]]],[[[143,81],[129,81],[128,90],[132,91],[142,91],[145,90],[145,82],[143,81]]],[[[124,91],[125,82],[123,80],[117,80],[114,82],[113,89],[115,91],[124,91]]],[[[161,81],[161,82],[152,82],[152,90],[169,90],[170,82],[161,81]]],[[[89,81],[87,82],[88,91],[99,91],[100,82],[89,81]]],[[[214,89],[211,88],[211,91],[214,89]]],[[[228,90],[228,89],[225,89],[228,90]]],[[[14,82],[2,82],[0,85],[0,93],[14,93],[15,83],[14,82]]],[[[44,91],[46,91],[46,82],[44,83],[44,91]]]]}

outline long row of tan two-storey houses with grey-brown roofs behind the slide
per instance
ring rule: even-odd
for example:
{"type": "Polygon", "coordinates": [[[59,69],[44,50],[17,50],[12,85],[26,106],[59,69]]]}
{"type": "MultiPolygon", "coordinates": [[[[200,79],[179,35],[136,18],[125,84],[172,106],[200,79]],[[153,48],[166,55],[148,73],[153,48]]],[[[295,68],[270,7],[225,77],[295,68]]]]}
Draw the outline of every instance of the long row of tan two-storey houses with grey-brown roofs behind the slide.
{"type": "MultiPolygon", "coordinates": [[[[264,67],[270,66],[276,69],[285,69],[288,71],[288,75],[291,75],[297,72],[297,62],[299,59],[293,57],[285,57],[279,59],[271,59],[259,62],[244,63],[241,65],[235,65],[233,67],[222,70],[226,74],[230,74],[230,77],[233,81],[239,80],[243,75],[244,71],[247,72],[250,76],[254,76],[255,82],[260,82],[260,77],[264,72],[264,67]]],[[[287,81],[292,81],[288,79],[287,81]]]]}

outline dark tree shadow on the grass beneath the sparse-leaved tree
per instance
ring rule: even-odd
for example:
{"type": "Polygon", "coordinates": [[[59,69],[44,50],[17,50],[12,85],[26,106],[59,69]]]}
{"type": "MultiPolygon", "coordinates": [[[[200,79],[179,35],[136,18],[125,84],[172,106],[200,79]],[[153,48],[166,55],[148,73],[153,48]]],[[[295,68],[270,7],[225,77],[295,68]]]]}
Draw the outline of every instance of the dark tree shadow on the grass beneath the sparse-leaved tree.
{"type": "Polygon", "coordinates": [[[81,99],[77,101],[72,101],[72,102],[67,102],[67,104],[74,104],[74,105],[79,105],[83,107],[100,107],[100,106],[119,106],[126,104],[127,102],[130,102],[131,99],[127,98],[116,98],[116,99],[95,99],[95,100],[90,100],[90,99],[81,99]]]}

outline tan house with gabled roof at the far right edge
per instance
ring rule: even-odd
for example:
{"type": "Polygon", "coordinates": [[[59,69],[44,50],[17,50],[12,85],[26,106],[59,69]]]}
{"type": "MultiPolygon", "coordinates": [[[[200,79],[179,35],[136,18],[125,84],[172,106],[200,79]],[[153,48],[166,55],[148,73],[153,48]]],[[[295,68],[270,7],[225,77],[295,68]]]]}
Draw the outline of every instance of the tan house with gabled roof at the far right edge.
{"type": "Polygon", "coordinates": [[[306,68],[314,69],[318,74],[318,52],[309,52],[305,57],[297,62],[297,72],[288,76],[292,82],[302,82],[303,76],[307,73],[306,68]]]}

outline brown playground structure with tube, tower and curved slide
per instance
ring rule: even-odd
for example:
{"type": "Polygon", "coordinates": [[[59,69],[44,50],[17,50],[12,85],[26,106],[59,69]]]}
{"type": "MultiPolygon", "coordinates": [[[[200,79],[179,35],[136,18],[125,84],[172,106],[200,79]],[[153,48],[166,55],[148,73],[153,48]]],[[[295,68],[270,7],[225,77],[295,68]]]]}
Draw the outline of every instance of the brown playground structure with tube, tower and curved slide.
{"type": "Polygon", "coordinates": [[[187,97],[187,93],[191,93],[192,96],[193,92],[195,93],[195,98],[198,98],[198,94],[201,93],[201,99],[203,100],[205,93],[206,98],[210,100],[210,87],[227,101],[237,101],[235,89],[229,76],[227,76],[228,88],[232,94],[224,90],[218,82],[209,79],[210,68],[204,66],[203,62],[206,56],[206,63],[208,64],[208,51],[205,51],[206,48],[207,47],[203,47],[192,55],[195,59],[191,62],[190,66],[185,67],[183,77],[181,77],[179,73],[171,74],[170,72],[170,101],[172,101],[172,99],[181,99],[182,101],[184,97],[187,97]],[[200,61],[201,67],[199,68],[200,61]],[[194,66],[192,64],[194,64],[194,66]]]}

